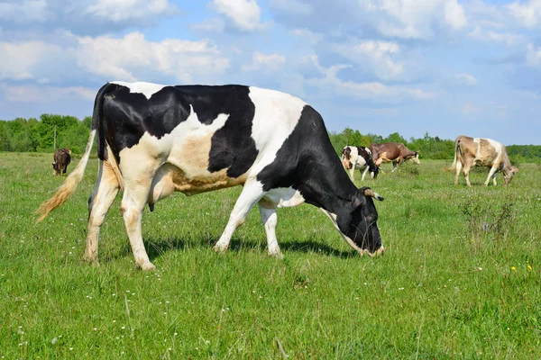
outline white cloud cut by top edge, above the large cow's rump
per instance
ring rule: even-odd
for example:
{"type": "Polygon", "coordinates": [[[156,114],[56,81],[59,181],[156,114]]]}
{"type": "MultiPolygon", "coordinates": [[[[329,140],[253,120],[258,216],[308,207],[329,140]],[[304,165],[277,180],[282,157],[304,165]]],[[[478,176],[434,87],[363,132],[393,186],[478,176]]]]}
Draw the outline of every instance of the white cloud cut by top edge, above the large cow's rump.
{"type": "Polygon", "coordinates": [[[87,6],[87,14],[113,22],[145,20],[151,16],[177,12],[177,7],[168,0],[97,0],[87,6]]]}

